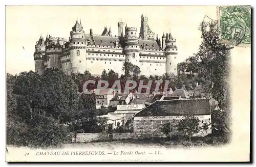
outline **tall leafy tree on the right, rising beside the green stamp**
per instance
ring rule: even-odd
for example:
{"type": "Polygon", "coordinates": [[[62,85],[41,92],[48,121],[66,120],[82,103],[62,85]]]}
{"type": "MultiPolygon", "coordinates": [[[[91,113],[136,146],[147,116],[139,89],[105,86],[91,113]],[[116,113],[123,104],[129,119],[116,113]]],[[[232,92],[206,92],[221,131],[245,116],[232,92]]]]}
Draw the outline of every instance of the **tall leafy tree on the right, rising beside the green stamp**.
{"type": "Polygon", "coordinates": [[[226,112],[225,123],[230,122],[230,48],[219,42],[217,20],[202,21],[202,43],[199,51],[188,58],[198,68],[207,97],[218,101],[218,106],[226,112]]]}

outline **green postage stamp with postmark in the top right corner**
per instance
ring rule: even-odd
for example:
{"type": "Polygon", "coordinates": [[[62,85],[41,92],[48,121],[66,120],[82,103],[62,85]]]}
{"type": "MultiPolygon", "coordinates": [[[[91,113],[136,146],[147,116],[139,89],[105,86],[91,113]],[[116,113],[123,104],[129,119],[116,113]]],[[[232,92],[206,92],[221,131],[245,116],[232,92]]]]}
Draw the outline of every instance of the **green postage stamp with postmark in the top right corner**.
{"type": "Polygon", "coordinates": [[[251,44],[251,7],[217,7],[221,42],[242,47],[251,44]]]}

